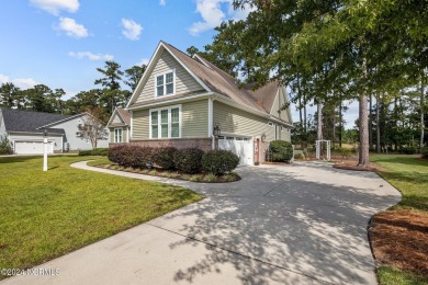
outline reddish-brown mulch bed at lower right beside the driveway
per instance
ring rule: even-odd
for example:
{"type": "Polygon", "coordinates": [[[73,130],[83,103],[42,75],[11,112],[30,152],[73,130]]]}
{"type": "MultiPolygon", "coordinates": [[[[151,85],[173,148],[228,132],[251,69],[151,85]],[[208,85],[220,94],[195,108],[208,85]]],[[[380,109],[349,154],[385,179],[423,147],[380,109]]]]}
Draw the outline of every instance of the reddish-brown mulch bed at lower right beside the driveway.
{"type": "Polygon", "coordinates": [[[372,219],[369,236],[375,260],[428,276],[428,215],[408,209],[386,210],[372,219]]]}

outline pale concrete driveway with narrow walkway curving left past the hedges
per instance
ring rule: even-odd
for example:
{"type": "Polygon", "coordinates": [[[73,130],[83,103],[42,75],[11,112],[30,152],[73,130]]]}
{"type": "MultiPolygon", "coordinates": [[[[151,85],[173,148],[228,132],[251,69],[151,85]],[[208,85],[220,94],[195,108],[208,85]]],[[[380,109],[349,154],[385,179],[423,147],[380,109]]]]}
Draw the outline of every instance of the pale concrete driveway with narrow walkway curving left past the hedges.
{"type": "Polygon", "coordinates": [[[72,167],[182,185],[205,200],[37,267],[56,276],[1,284],[376,284],[370,217],[401,200],[371,172],[325,163],[239,168],[204,184],[72,167]]]}

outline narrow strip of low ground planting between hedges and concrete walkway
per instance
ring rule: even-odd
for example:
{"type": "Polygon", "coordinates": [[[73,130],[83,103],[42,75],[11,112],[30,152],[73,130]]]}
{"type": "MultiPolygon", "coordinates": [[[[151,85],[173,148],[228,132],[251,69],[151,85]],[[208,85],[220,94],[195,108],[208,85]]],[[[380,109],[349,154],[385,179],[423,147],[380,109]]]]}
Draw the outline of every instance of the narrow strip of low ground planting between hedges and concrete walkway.
{"type": "Polygon", "coordinates": [[[201,182],[201,183],[228,183],[228,182],[235,182],[240,180],[240,176],[235,172],[230,172],[223,175],[214,175],[211,173],[187,174],[187,173],[180,173],[178,171],[168,171],[162,169],[149,170],[144,168],[132,168],[132,167],[126,168],[126,167],[121,167],[119,164],[110,164],[110,163],[97,164],[95,167],[151,175],[151,176],[178,179],[178,180],[185,180],[185,181],[201,182]]]}

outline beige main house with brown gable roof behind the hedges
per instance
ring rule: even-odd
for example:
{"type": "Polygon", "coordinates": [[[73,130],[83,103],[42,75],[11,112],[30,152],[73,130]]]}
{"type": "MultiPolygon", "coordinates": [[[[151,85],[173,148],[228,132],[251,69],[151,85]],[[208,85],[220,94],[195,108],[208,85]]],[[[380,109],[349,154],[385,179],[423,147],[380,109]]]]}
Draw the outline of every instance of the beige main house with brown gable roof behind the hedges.
{"type": "Polygon", "coordinates": [[[205,151],[218,147],[237,153],[240,164],[264,161],[269,141],[290,141],[292,127],[284,87],[271,82],[256,91],[240,89],[210,61],[165,42],[156,48],[126,110],[129,142],[205,151]],[[214,128],[219,136],[214,136],[214,128]]]}

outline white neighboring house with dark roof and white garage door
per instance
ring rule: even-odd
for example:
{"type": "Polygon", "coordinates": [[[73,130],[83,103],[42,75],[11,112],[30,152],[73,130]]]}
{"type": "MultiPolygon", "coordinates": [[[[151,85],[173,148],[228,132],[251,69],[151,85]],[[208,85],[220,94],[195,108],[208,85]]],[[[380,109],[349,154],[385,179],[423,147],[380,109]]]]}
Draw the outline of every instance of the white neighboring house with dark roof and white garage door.
{"type": "MultiPolygon", "coordinates": [[[[18,155],[43,153],[43,136],[47,130],[48,152],[92,149],[91,142],[77,137],[78,125],[87,113],[61,115],[43,112],[0,109],[0,137],[7,138],[18,155]]],[[[108,147],[99,140],[98,147],[108,147]]]]}

